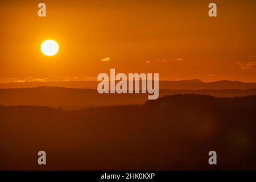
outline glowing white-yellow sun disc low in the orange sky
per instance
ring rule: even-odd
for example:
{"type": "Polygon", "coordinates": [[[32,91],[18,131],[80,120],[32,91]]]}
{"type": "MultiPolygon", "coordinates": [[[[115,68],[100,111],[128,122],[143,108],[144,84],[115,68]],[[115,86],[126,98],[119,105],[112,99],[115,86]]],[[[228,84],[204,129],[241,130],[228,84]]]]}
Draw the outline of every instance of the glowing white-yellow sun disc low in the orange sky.
{"type": "Polygon", "coordinates": [[[46,56],[54,56],[59,51],[59,45],[54,40],[46,40],[41,45],[41,51],[46,56]]]}

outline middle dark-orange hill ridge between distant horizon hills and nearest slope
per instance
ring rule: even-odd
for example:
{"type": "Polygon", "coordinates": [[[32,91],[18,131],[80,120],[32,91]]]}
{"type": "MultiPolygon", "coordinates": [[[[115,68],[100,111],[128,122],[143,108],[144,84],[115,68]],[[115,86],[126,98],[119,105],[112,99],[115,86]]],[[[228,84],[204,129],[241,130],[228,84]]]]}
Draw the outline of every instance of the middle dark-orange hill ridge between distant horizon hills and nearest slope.
{"type": "MultiPolygon", "coordinates": [[[[235,97],[256,94],[247,90],[159,90],[160,97],[172,94],[208,94],[216,97],[235,97]]],[[[143,104],[147,94],[99,94],[94,89],[75,89],[42,86],[37,88],[0,89],[2,105],[35,105],[82,109],[86,107],[143,104]]]]}

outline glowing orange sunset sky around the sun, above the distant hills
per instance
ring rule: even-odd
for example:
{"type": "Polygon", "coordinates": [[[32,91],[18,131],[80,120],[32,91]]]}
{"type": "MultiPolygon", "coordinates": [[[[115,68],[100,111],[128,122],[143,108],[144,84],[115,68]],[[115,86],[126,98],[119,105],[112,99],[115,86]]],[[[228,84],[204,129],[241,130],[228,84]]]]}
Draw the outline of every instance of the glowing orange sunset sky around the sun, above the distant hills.
{"type": "Polygon", "coordinates": [[[115,68],[160,80],[256,81],[256,2],[214,1],[217,18],[209,2],[1,1],[0,77],[97,77],[115,68]],[[38,17],[39,2],[47,17],[38,17]],[[40,51],[46,39],[59,43],[56,56],[40,51]]]}

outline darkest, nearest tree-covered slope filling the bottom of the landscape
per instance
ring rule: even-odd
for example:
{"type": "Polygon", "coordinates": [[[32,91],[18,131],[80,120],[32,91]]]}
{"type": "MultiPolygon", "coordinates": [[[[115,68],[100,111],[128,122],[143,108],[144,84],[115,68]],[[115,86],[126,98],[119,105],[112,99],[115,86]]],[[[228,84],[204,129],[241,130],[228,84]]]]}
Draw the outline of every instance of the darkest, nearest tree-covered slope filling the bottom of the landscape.
{"type": "Polygon", "coordinates": [[[256,96],[73,111],[1,106],[0,126],[0,169],[256,169],[256,96]]]}

